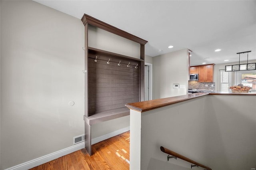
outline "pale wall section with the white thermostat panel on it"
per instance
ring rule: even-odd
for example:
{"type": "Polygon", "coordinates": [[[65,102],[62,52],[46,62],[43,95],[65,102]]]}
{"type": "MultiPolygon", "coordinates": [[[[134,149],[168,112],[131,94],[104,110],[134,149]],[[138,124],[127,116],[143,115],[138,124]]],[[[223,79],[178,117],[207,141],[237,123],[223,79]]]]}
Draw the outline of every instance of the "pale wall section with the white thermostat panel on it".
{"type": "Polygon", "coordinates": [[[153,99],[185,95],[188,90],[188,49],[153,57],[153,99]],[[172,85],[185,85],[173,89],[172,85]]]}

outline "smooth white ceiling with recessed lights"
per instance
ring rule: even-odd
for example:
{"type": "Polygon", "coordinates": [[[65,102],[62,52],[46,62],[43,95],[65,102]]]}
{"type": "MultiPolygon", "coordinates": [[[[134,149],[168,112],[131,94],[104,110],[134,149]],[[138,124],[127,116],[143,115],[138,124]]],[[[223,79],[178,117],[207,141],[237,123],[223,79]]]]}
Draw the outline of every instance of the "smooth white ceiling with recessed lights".
{"type": "Polygon", "coordinates": [[[243,51],[256,59],[256,0],[35,1],[79,19],[88,14],[147,40],[145,53],[152,57],[188,48],[190,65],[238,62],[236,53],[243,51]]]}

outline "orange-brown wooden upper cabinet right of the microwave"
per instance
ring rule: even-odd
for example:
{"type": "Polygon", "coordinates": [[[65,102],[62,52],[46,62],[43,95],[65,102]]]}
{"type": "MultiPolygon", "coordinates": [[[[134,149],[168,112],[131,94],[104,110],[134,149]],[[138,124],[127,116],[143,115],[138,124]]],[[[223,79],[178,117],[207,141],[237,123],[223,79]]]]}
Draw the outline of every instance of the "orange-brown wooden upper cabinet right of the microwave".
{"type": "Polygon", "coordinates": [[[213,82],[214,64],[198,66],[198,82],[213,82]]]}

